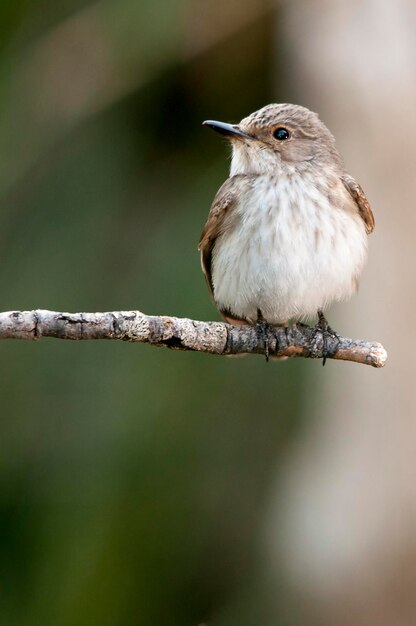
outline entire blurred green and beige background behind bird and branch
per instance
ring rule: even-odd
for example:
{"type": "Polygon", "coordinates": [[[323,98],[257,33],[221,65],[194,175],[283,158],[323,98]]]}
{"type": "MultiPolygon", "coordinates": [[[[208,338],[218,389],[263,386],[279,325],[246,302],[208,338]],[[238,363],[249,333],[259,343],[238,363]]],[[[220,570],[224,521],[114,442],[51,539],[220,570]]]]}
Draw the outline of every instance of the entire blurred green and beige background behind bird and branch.
{"type": "Polygon", "coordinates": [[[4,626],[416,623],[413,0],[3,0],[1,309],[217,319],[204,119],[319,111],[374,208],[384,370],[0,346],[4,626]]]}

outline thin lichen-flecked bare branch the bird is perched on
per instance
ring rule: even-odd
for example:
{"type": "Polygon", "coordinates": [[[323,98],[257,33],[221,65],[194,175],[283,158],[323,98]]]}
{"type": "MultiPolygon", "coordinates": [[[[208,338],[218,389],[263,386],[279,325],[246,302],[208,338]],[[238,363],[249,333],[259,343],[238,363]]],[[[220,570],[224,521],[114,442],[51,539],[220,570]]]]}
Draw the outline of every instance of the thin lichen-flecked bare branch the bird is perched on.
{"type": "MultiPolygon", "coordinates": [[[[209,354],[263,354],[263,340],[255,326],[197,322],[186,318],[145,315],[140,311],[57,313],[7,311],[0,313],[0,339],[121,339],[175,350],[209,354]]],[[[323,357],[323,337],[313,327],[296,324],[270,327],[270,356],[323,357]]],[[[327,358],[383,367],[387,352],[380,343],[328,337],[327,358]]]]}

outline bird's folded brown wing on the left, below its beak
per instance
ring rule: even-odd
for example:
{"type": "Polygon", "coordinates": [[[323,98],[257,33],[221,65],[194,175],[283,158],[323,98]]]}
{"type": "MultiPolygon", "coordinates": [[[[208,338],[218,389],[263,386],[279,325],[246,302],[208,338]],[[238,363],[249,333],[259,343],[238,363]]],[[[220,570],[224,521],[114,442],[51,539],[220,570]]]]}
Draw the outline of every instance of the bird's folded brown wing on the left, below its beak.
{"type": "Polygon", "coordinates": [[[207,223],[199,239],[198,250],[201,252],[202,271],[205,274],[213,299],[214,289],[211,275],[212,250],[217,237],[232,223],[232,213],[233,208],[236,206],[238,191],[236,178],[237,176],[229,178],[222,187],[219,188],[208,214],[207,223]]]}

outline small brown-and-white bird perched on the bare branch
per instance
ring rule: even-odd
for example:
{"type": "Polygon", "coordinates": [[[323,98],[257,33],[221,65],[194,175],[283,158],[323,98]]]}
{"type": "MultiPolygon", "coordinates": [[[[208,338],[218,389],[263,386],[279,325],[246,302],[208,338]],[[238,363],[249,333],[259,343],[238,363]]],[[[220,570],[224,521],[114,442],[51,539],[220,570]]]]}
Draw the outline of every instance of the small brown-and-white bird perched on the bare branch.
{"type": "Polygon", "coordinates": [[[204,124],[232,146],[230,177],[199,241],[222,317],[264,330],[318,314],[317,327],[333,332],[323,310],[357,290],[374,229],[333,135],[295,104],[269,104],[236,125],[204,124]]]}

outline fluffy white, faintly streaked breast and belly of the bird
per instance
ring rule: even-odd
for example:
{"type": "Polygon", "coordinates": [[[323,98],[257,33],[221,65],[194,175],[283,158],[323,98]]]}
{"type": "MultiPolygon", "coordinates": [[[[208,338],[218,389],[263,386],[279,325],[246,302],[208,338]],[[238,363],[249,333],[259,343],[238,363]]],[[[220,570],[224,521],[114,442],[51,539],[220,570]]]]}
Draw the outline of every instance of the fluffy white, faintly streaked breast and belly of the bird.
{"type": "Polygon", "coordinates": [[[350,297],[367,249],[359,215],[330,204],[305,176],[259,176],[256,183],[239,202],[236,226],[215,243],[218,307],[250,322],[260,309],[279,324],[350,297]]]}

